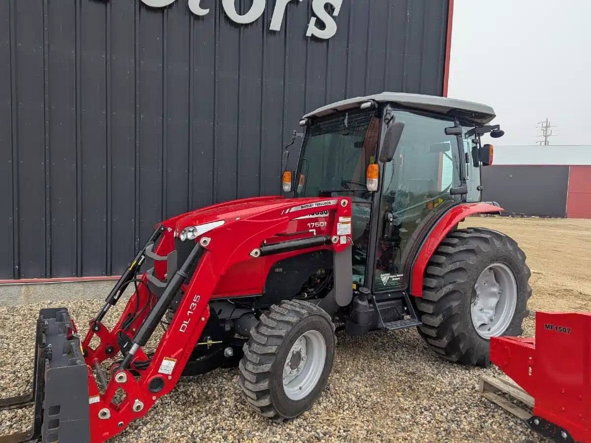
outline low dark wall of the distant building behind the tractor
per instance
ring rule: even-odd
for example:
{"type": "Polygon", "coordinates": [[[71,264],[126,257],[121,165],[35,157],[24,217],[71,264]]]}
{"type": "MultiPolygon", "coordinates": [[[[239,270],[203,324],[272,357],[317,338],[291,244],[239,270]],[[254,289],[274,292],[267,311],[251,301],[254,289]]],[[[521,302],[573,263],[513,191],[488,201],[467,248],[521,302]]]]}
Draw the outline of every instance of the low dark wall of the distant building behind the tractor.
{"type": "Polygon", "coordinates": [[[569,166],[493,165],[482,168],[482,200],[505,215],[566,217],[569,166]]]}

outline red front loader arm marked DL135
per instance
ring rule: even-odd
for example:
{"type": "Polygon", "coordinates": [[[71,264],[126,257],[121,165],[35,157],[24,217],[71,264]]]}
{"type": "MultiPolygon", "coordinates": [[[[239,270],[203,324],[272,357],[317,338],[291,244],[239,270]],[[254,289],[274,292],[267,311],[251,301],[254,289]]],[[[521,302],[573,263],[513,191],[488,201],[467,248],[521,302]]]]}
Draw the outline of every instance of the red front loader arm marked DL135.
{"type": "MultiPolygon", "coordinates": [[[[269,197],[266,197],[266,200],[268,201],[269,197]]],[[[141,277],[125,277],[127,281],[124,285],[118,282],[115,287],[121,290],[127,284],[136,285],[136,291],[129,298],[123,314],[112,330],[100,321],[121,295],[118,294],[115,297],[112,292],[103,310],[96,318],[90,320],[89,330],[80,346],[87,372],[87,403],[86,400],[85,403],[88,409],[83,412],[90,424],[89,435],[92,443],[106,441],[121,432],[129,422],[144,416],[158,398],[166,395],[176,386],[210,318],[209,301],[215,288],[220,278],[233,265],[244,260],[257,260],[262,255],[280,254],[285,250],[304,253],[325,249],[332,250],[335,254],[345,251],[350,253],[352,243],[350,198],[340,197],[330,200],[275,198],[275,200],[274,204],[264,207],[259,213],[244,218],[236,217],[236,220],[226,220],[223,227],[217,227],[194,240],[187,240],[190,243],[187,245],[190,247],[190,252],[174,275],[162,275],[161,263],[160,266],[155,265],[148,272],[144,272],[141,277]],[[309,232],[290,233],[288,230],[290,222],[297,220],[298,217],[310,216],[319,211],[319,208],[329,211],[330,214],[329,226],[324,232],[319,234],[312,229],[309,232]],[[154,269],[160,269],[160,271],[154,271],[154,269]],[[153,287],[150,286],[150,272],[160,273],[159,278],[166,282],[160,294],[154,294],[154,291],[150,290],[153,287]],[[147,353],[144,349],[145,345],[163,319],[171,301],[179,293],[181,294],[180,303],[170,324],[154,352],[147,353]],[[91,341],[95,338],[99,339],[100,344],[92,347],[91,341]],[[112,368],[112,374],[108,380],[100,368],[100,363],[112,359],[120,352],[124,359],[112,368]],[[122,400],[120,396],[116,396],[119,389],[125,392],[122,400]]],[[[151,240],[160,236],[160,242],[154,250],[148,242],[142,249],[145,253],[136,258],[139,263],[144,261],[146,254],[148,258],[151,256],[165,259],[170,256],[171,247],[174,245],[173,237],[178,234],[174,232],[173,226],[177,220],[178,217],[163,222],[157,227],[151,240]],[[161,235],[156,235],[157,233],[161,235]]],[[[152,278],[152,284],[153,282],[152,278]]],[[[349,291],[352,292],[351,285],[349,285],[349,291]]],[[[64,311],[67,315],[67,310],[64,311]]],[[[72,327],[66,339],[73,340],[72,343],[78,343],[75,327],[72,327]]],[[[38,341],[43,340],[44,337],[38,338],[38,341]]],[[[67,366],[62,368],[62,371],[65,370],[71,371],[72,368],[67,366]]],[[[86,390],[82,390],[85,391],[86,398],[86,390]]],[[[68,405],[71,396],[72,393],[67,388],[63,389],[61,398],[56,400],[56,404],[50,405],[45,402],[43,409],[47,411],[48,408],[53,407],[54,412],[59,412],[60,407],[64,409],[64,405],[68,405]]],[[[43,400],[46,401],[47,397],[43,400]]],[[[85,422],[80,424],[84,426],[85,422]]],[[[59,438],[61,443],[83,441],[80,438],[72,440],[63,438],[64,435],[60,437],[59,413],[54,416],[52,426],[52,438],[59,438]]],[[[46,441],[45,428],[42,437],[46,441]]]]}

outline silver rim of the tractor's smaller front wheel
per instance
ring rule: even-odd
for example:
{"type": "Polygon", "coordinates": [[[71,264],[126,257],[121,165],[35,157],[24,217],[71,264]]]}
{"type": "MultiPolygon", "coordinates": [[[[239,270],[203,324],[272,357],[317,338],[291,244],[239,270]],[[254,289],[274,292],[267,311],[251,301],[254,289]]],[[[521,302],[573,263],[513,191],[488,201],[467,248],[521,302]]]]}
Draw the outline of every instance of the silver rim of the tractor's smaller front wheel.
{"type": "Polygon", "coordinates": [[[300,335],[283,365],[283,389],[291,400],[301,400],[320,380],[326,361],[326,341],[318,331],[300,335]]]}

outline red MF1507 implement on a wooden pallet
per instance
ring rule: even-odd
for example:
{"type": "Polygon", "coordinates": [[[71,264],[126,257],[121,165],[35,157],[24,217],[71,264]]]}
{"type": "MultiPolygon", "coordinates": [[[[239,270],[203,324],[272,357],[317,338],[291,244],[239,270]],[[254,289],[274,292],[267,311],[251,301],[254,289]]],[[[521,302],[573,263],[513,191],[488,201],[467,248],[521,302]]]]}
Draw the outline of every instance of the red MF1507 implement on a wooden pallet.
{"type": "Polygon", "coordinates": [[[591,314],[537,312],[535,338],[491,338],[491,361],[535,400],[528,425],[591,441],[591,314]]]}

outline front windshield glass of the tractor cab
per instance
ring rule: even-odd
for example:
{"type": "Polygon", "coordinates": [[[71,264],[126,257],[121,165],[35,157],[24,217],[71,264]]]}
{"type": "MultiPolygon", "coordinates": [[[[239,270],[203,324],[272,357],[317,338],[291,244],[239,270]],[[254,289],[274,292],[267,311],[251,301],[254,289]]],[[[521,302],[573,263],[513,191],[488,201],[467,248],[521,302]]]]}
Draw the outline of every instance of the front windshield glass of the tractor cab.
{"type": "Polygon", "coordinates": [[[374,110],[350,110],[311,125],[302,147],[296,197],[367,193],[366,169],[375,162],[379,126],[374,110]]]}

